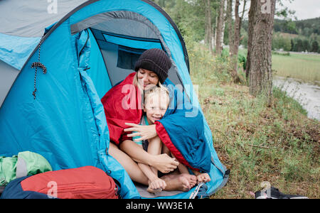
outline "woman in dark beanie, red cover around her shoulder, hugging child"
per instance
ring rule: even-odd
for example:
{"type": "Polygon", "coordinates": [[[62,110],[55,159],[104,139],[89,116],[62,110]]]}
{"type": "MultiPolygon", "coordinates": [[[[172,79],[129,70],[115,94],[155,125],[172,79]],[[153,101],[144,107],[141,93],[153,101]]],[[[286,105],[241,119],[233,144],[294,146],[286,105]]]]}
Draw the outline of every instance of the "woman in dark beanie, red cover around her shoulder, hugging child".
{"type": "MultiPolygon", "coordinates": [[[[170,67],[171,60],[163,50],[146,50],[135,64],[136,72],[112,87],[101,100],[113,142],[110,143],[109,154],[119,161],[132,180],[144,185],[149,185],[149,180],[137,163],[150,165],[161,173],[170,173],[178,166],[174,158],[161,154],[159,136],[166,134],[162,133],[164,129],[161,129],[161,124],[138,125],[142,118],[144,89],[163,84],[170,67]],[[130,133],[132,131],[138,133],[130,133]],[[141,140],[149,139],[154,153],[147,153],[132,141],[132,136],[137,135],[141,136],[141,140]]],[[[194,175],[164,175],[162,179],[166,182],[164,190],[186,191],[196,184],[194,175]]]]}

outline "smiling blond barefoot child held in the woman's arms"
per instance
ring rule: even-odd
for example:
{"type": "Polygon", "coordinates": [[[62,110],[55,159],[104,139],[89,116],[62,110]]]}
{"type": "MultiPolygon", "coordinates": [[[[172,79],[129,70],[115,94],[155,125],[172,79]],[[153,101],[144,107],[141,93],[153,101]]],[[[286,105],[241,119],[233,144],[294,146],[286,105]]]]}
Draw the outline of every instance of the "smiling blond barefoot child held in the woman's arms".
{"type": "MultiPolygon", "coordinates": [[[[166,113],[166,109],[169,107],[169,91],[166,89],[166,87],[160,85],[160,87],[153,87],[145,92],[144,95],[144,116],[142,116],[142,120],[140,122],[141,125],[151,125],[154,124],[155,121],[160,120],[164,114],[166,113]]],[[[161,151],[162,153],[166,153],[168,155],[172,155],[172,153],[169,151],[166,146],[161,143],[160,138],[156,137],[152,140],[159,140],[160,143],[153,143],[151,141],[137,141],[137,138],[139,136],[134,136],[132,139],[135,143],[137,143],[139,146],[144,148],[145,151],[151,154],[160,154],[160,153],[154,153],[154,151],[161,151]],[[149,146],[149,142],[150,146],[149,146]],[[160,144],[161,147],[156,146],[154,147],[154,144],[160,144]]],[[[142,169],[143,173],[146,175],[146,177],[149,179],[149,187],[148,192],[161,192],[161,190],[164,190],[166,188],[166,178],[162,180],[158,177],[158,171],[154,168],[150,167],[149,165],[145,165],[143,163],[138,163],[139,167],[142,169]]],[[[188,169],[185,165],[179,164],[178,170],[181,174],[185,174],[186,176],[190,173],[188,172],[188,169]]],[[[196,175],[196,180],[194,181],[188,181],[186,178],[181,177],[181,181],[183,182],[183,187],[181,187],[183,190],[188,191],[193,187],[196,182],[208,182],[210,181],[210,176],[208,173],[199,173],[196,170],[192,170],[192,172],[196,175]]],[[[190,180],[190,179],[189,179],[190,180]]]]}

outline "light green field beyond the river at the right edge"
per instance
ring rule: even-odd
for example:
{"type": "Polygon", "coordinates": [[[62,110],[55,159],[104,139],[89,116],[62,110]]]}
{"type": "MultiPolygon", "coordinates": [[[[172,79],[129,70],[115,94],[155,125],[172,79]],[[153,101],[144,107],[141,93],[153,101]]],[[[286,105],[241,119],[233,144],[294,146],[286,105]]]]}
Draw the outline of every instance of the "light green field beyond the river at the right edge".
{"type": "Polygon", "coordinates": [[[320,55],[290,53],[272,55],[274,75],[293,77],[305,82],[320,82],[320,55]]]}

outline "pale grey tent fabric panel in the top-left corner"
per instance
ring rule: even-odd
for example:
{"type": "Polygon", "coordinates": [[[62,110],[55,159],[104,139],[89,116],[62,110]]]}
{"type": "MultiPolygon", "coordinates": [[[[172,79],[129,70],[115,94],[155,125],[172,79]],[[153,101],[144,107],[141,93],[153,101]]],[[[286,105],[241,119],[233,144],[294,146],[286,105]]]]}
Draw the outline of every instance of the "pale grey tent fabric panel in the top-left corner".
{"type": "Polygon", "coordinates": [[[44,29],[87,0],[1,0],[0,33],[41,37],[44,29]],[[56,4],[55,4],[56,3],[56,4]]]}

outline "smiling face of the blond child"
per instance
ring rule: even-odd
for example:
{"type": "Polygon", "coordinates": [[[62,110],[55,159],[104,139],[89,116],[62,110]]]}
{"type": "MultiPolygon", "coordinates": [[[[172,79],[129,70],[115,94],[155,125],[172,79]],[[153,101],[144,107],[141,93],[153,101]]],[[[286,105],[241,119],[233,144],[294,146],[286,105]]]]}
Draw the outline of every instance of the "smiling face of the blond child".
{"type": "Polygon", "coordinates": [[[154,124],[154,121],[160,120],[164,116],[168,105],[169,103],[165,98],[159,98],[157,95],[149,97],[144,104],[146,117],[154,124]]]}

